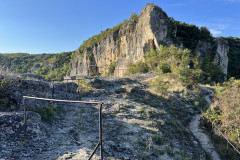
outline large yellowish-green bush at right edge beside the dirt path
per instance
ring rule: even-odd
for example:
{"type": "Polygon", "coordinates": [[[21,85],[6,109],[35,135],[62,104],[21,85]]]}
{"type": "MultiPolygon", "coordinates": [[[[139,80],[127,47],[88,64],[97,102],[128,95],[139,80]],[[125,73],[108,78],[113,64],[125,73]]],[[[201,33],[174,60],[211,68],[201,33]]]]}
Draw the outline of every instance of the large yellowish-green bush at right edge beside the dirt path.
{"type": "Polygon", "coordinates": [[[240,80],[231,78],[218,86],[214,104],[206,111],[210,119],[240,149],[240,80]]]}

